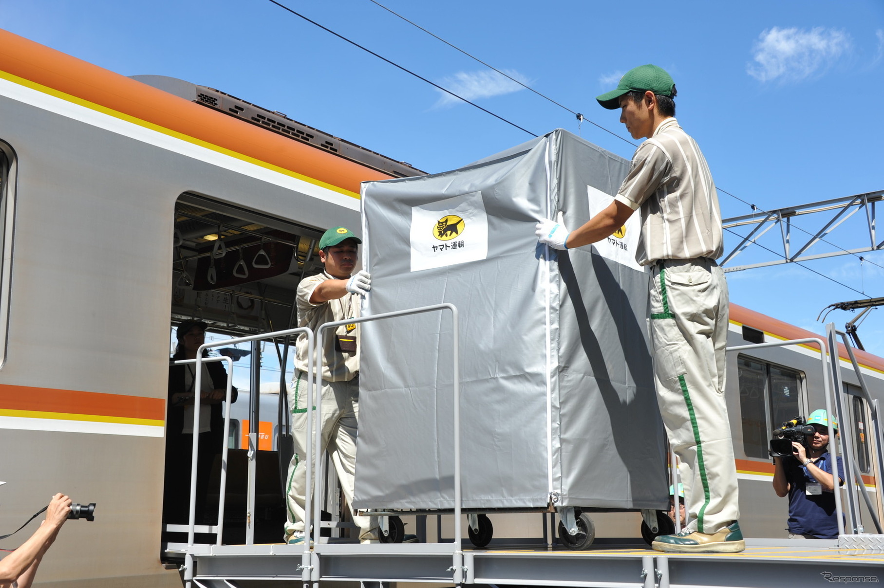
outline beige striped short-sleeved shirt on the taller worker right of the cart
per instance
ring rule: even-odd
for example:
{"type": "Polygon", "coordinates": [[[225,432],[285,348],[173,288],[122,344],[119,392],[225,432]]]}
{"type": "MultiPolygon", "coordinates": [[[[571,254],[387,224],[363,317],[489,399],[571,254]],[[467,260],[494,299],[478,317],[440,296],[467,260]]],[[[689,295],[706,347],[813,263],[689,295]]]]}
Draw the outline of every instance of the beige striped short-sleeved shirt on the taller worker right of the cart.
{"type": "Polygon", "coordinates": [[[723,253],[721,212],[709,165],[674,117],[638,146],[614,200],[633,210],[642,208],[639,265],[714,260],[723,253]]]}

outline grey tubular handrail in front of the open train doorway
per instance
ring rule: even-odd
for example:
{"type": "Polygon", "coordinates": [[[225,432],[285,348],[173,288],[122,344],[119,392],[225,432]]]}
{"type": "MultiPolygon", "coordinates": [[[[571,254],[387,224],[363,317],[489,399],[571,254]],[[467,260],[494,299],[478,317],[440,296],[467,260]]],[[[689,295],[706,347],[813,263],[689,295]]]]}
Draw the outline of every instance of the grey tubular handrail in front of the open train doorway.
{"type": "MultiPolygon", "coordinates": [[[[247,343],[250,341],[262,341],[263,339],[275,339],[277,337],[283,337],[286,335],[296,335],[296,334],[301,335],[301,333],[307,335],[308,349],[311,349],[313,347],[314,335],[313,335],[313,330],[309,327],[286,328],[285,330],[274,331],[271,333],[258,333],[257,335],[248,335],[248,336],[244,336],[244,337],[237,337],[235,339],[225,339],[223,341],[203,343],[202,345],[200,345],[200,348],[196,351],[196,359],[190,360],[190,361],[194,361],[196,363],[196,373],[194,375],[194,390],[200,389],[200,385],[202,383],[201,382],[202,362],[215,361],[215,360],[220,359],[220,358],[203,358],[202,357],[203,351],[209,350],[213,347],[221,347],[222,345],[225,345],[225,346],[236,345],[238,343],[247,343]]],[[[228,360],[231,359],[231,358],[226,358],[225,356],[222,356],[222,357],[225,359],[228,359],[228,360]]],[[[312,368],[313,367],[313,357],[312,357],[312,354],[310,354],[310,353],[308,353],[307,362],[308,362],[308,368],[309,369],[312,368]]],[[[230,388],[232,386],[232,381],[233,381],[232,360],[228,362],[228,365],[231,366],[231,373],[229,373],[227,376],[228,392],[227,392],[227,418],[225,419],[225,449],[224,449],[225,452],[226,452],[226,448],[227,448],[227,443],[226,443],[227,434],[229,434],[228,427],[229,427],[229,416],[230,416],[230,388]]],[[[252,369],[254,370],[255,366],[252,366],[252,369]]],[[[280,366],[280,369],[285,370],[286,366],[280,366]]],[[[308,382],[308,386],[307,386],[308,397],[312,396],[312,390],[311,390],[310,383],[311,382],[308,382]]],[[[250,390],[250,394],[260,394],[260,393],[261,393],[260,390],[250,390]]],[[[280,394],[282,394],[282,393],[283,393],[283,390],[280,390],[280,394]]],[[[196,419],[199,418],[199,412],[200,412],[200,410],[199,410],[199,395],[196,395],[195,398],[196,398],[196,400],[194,402],[194,413],[195,413],[194,421],[196,421],[196,419]]],[[[255,403],[255,405],[257,405],[257,403],[255,403]]],[[[249,412],[252,412],[251,408],[249,409],[249,412]]],[[[251,418],[251,416],[252,415],[250,414],[249,417],[251,418]]],[[[198,422],[198,421],[196,421],[196,422],[198,422]]],[[[199,426],[197,426],[195,430],[199,430],[199,426]]],[[[308,435],[307,436],[307,450],[308,451],[310,450],[310,439],[311,439],[310,431],[311,431],[310,430],[310,421],[308,419],[308,421],[307,421],[307,435],[308,435]]],[[[255,431],[249,430],[249,432],[248,432],[248,438],[249,438],[249,441],[248,441],[249,448],[248,449],[249,449],[249,459],[250,460],[255,459],[255,453],[258,450],[257,434],[258,434],[258,432],[256,430],[255,431]]],[[[195,482],[195,479],[196,479],[196,452],[198,449],[198,437],[199,437],[198,434],[194,434],[194,458],[193,458],[194,461],[193,461],[193,464],[191,464],[192,465],[192,467],[191,467],[191,498],[190,498],[190,522],[189,522],[190,529],[187,532],[187,548],[188,549],[190,549],[191,547],[194,546],[194,522],[195,522],[195,517],[196,517],[196,512],[195,512],[196,482],[195,482]]],[[[310,476],[309,460],[308,460],[306,472],[307,472],[307,477],[309,479],[309,476],[310,476]]],[[[222,476],[225,476],[225,470],[222,470],[222,476]]],[[[254,487],[254,485],[255,485],[254,478],[255,478],[255,471],[253,468],[250,468],[249,472],[248,472],[248,485],[249,485],[249,487],[254,487]]],[[[225,480],[225,478],[224,478],[224,480],[225,480]]],[[[223,481],[222,485],[221,485],[221,494],[219,495],[219,499],[218,499],[218,501],[221,504],[224,503],[225,492],[226,492],[226,486],[225,486],[225,482],[223,481]]],[[[309,508],[309,501],[310,501],[310,496],[309,496],[309,493],[307,493],[306,505],[308,508],[309,508]]],[[[248,508],[248,513],[250,513],[252,516],[250,517],[250,522],[247,521],[246,543],[247,543],[247,545],[252,545],[254,543],[254,539],[255,539],[255,535],[254,535],[254,533],[255,533],[255,527],[254,527],[255,494],[254,493],[250,494],[248,497],[247,508],[248,508]]],[[[219,524],[220,524],[221,520],[223,520],[223,516],[224,516],[224,513],[222,511],[221,514],[218,516],[219,524]]],[[[307,516],[305,518],[309,519],[309,516],[307,516]]],[[[308,522],[309,521],[305,521],[305,524],[307,524],[308,522]]],[[[307,527],[305,527],[305,528],[307,528],[307,527]]],[[[219,545],[221,543],[220,532],[218,533],[218,536],[217,536],[217,543],[219,545]]],[[[306,562],[309,562],[308,550],[305,549],[304,552],[305,552],[306,562]]]]}

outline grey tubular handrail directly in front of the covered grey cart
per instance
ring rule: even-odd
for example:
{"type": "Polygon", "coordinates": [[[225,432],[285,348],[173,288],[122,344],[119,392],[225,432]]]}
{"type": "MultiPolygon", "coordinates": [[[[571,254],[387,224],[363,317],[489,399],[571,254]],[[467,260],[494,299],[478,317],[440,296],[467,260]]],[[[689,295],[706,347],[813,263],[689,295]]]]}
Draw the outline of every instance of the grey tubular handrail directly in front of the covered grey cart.
{"type": "MultiPolygon", "coordinates": [[[[451,303],[441,303],[438,305],[428,305],[428,306],[419,306],[416,308],[408,308],[400,311],[392,311],[389,313],[380,313],[380,314],[370,314],[367,316],[361,316],[358,318],[346,319],[346,320],[334,320],[331,322],[325,322],[316,328],[316,386],[313,388],[316,391],[316,403],[308,403],[308,416],[307,420],[310,422],[311,420],[311,412],[315,407],[316,410],[316,423],[319,424],[322,422],[322,389],[323,389],[323,335],[324,332],[330,328],[338,328],[343,325],[350,324],[360,324],[363,322],[371,322],[375,320],[385,320],[385,319],[393,319],[402,316],[409,316],[414,314],[423,314],[423,313],[434,313],[438,311],[449,310],[452,313],[452,350],[453,350],[453,358],[452,358],[452,373],[453,373],[453,418],[454,418],[454,542],[453,542],[453,582],[454,584],[461,584],[463,578],[463,552],[461,550],[461,366],[460,366],[460,342],[459,342],[459,322],[458,322],[458,311],[457,306],[451,303]]],[[[322,456],[322,435],[319,432],[320,427],[316,427],[317,432],[315,433],[316,442],[314,449],[314,461],[316,464],[319,464],[319,459],[322,456]]],[[[309,433],[308,433],[309,434],[309,433]]],[[[308,464],[311,460],[307,460],[308,464]]],[[[319,498],[321,496],[323,481],[320,476],[316,476],[316,483],[314,485],[314,493],[316,493],[315,507],[316,509],[316,520],[320,520],[320,511],[319,511],[319,498]]],[[[305,494],[310,494],[309,492],[305,494]]],[[[353,505],[350,505],[351,508],[353,505]]],[[[319,526],[315,525],[313,530],[314,533],[314,548],[319,547],[319,526]]],[[[304,525],[305,531],[309,529],[309,527],[304,525]]],[[[319,573],[318,569],[314,569],[313,579],[314,581],[318,581],[319,573]]]]}

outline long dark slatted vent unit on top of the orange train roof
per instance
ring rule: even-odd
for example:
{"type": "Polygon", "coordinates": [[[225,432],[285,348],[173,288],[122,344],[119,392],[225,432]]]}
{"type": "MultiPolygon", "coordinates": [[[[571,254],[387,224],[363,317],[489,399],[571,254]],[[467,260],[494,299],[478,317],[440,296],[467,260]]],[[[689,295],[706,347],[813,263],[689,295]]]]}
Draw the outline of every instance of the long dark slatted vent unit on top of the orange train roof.
{"type": "Polygon", "coordinates": [[[175,94],[190,102],[225,113],[230,117],[240,118],[250,124],[261,126],[268,131],[285,135],[289,139],[308,143],[317,149],[339,155],[351,162],[360,163],[373,170],[392,177],[423,176],[425,171],[417,170],[406,162],[397,162],[390,157],[380,155],[365,147],[360,147],[327,132],[299,123],[276,110],[263,109],[251,102],[226,94],[215,88],[197,86],[183,79],[168,76],[131,76],[143,84],[156,87],[169,94],[175,94]]]}

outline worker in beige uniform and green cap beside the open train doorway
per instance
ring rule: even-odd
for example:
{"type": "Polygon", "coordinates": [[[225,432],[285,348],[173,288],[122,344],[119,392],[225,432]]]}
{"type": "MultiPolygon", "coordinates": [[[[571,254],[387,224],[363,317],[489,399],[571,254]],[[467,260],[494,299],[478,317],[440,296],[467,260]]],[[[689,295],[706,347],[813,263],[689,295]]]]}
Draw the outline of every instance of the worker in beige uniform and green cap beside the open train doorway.
{"type": "MultiPolygon", "coordinates": [[[[319,240],[319,260],[324,272],[301,280],[297,290],[298,326],[316,330],[326,322],[354,319],[360,315],[361,297],[371,289],[368,272],[355,275],[357,245],[350,230],[335,227],[319,240]]],[[[358,324],[343,325],[323,335],[322,444],[331,457],[347,504],[353,504],[356,465],[356,421],[359,418],[358,324]]],[[[310,352],[307,335],[295,343],[294,379],[288,391],[292,412],[294,455],[288,466],[286,543],[304,540],[304,497],[307,491],[307,373],[310,352]]],[[[310,456],[312,459],[312,456],[310,456]]],[[[312,461],[311,461],[312,464],[312,461]]],[[[316,472],[315,467],[311,467],[316,472]]],[[[377,543],[377,517],[354,516],[362,543],[377,543]]]]}

